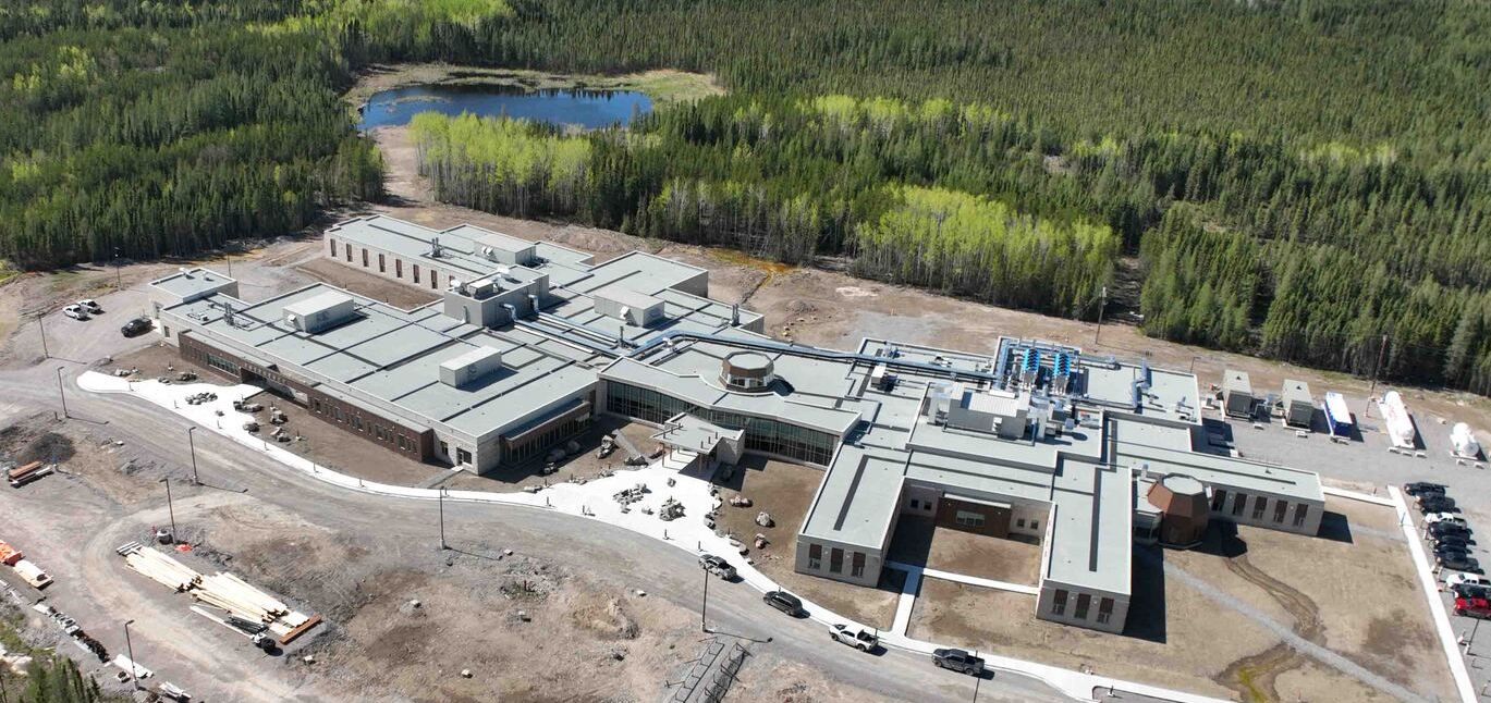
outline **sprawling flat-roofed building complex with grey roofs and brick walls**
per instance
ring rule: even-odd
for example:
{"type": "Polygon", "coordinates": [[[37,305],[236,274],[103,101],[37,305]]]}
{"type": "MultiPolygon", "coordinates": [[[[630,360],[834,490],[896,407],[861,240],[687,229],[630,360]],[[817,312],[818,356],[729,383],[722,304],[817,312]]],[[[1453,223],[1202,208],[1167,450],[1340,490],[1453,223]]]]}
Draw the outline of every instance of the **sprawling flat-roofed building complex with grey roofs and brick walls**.
{"type": "Polygon", "coordinates": [[[152,283],[163,334],[237,380],[414,459],[522,465],[595,413],[659,427],[686,462],[741,453],[825,471],[796,569],[874,587],[905,514],[1039,541],[1041,618],[1121,632],[1132,547],[1212,520],[1314,535],[1312,472],[1238,459],[1196,377],[1000,338],[993,354],[774,341],[710,301],[708,273],[646,253],[595,264],[474,226],[359,217],[332,261],[431,289],[414,310],[315,284],[270,299],[189,270],[152,283]]]}

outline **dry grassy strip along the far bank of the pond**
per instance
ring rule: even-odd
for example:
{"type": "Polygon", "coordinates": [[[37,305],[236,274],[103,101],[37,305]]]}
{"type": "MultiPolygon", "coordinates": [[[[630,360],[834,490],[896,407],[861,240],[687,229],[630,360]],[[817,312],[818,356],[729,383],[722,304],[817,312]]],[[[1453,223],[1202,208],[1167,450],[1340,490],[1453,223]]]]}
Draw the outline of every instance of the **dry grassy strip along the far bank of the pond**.
{"type": "Polygon", "coordinates": [[[407,85],[508,85],[529,91],[580,88],[590,91],[637,91],[655,103],[683,103],[723,95],[714,76],[675,70],[623,73],[617,76],[549,73],[522,69],[474,69],[452,64],[401,64],[374,67],[346,94],[353,109],[374,92],[407,85]]]}

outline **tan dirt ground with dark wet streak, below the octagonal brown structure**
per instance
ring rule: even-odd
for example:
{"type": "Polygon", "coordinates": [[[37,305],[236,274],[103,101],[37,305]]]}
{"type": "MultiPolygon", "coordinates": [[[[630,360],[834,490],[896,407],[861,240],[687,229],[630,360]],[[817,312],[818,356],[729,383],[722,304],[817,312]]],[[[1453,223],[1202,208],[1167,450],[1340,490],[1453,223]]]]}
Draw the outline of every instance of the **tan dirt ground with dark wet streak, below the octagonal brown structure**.
{"type": "Polygon", "coordinates": [[[1399,699],[1291,648],[1266,618],[1421,700],[1454,699],[1391,508],[1327,509],[1323,536],[1214,524],[1194,550],[1136,547],[1123,636],[1038,620],[1032,596],[941,579],[921,582],[908,634],[1241,700],[1399,699]]]}

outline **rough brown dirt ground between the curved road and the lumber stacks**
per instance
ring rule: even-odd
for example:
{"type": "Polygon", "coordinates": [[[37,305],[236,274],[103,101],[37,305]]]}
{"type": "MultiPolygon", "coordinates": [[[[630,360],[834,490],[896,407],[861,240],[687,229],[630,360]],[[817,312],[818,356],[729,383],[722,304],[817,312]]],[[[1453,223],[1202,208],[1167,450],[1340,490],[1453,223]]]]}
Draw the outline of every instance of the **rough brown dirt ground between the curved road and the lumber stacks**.
{"type": "Polygon", "coordinates": [[[315,664],[289,666],[332,676],[350,699],[653,700],[672,649],[698,633],[689,611],[495,545],[388,559],[371,538],[262,503],[212,511],[200,538],[198,554],[334,623],[307,648],[315,664]]]}

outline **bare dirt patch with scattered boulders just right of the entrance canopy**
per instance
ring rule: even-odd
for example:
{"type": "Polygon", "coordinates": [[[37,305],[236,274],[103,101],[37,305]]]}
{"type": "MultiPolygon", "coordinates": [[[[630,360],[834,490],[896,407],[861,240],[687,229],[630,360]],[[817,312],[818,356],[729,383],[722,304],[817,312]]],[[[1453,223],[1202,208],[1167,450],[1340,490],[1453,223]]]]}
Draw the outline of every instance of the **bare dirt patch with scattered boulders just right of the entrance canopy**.
{"type": "Polygon", "coordinates": [[[760,457],[741,462],[729,481],[720,481],[720,529],[743,542],[766,535],[765,550],[751,550],[751,559],[762,573],[792,593],[801,594],[833,612],[847,615],[871,627],[889,629],[896,618],[902,572],[886,569],[877,588],[844,584],[792,570],[798,554],[798,530],[808,514],[808,503],[823,481],[823,471],[760,457]],[[751,499],[750,508],[731,506],[737,494],[751,499]],[[756,524],[756,514],[766,511],[772,527],[756,524]]]}

